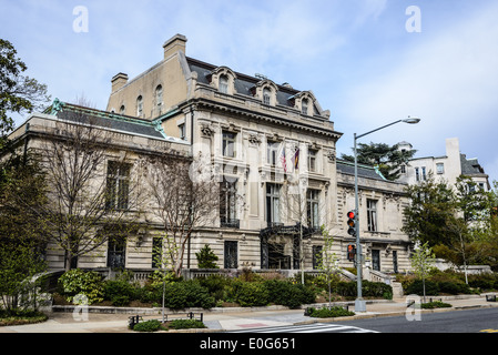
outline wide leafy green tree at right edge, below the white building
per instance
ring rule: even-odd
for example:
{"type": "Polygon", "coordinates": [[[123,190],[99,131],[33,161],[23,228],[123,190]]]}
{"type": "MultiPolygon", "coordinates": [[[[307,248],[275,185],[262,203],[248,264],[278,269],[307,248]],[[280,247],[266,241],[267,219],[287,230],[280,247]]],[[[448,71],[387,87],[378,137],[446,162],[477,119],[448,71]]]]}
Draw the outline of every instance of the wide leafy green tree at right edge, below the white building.
{"type": "Polygon", "coordinates": [[[427,243],[438,257],[456,266],[495,264],[498,260],[496,195],[485,192],[467,176],[453,187],[445,181],[427,181],[407,187],[411,200],[404,211],[403,230],[413,240],[427,243]]]}

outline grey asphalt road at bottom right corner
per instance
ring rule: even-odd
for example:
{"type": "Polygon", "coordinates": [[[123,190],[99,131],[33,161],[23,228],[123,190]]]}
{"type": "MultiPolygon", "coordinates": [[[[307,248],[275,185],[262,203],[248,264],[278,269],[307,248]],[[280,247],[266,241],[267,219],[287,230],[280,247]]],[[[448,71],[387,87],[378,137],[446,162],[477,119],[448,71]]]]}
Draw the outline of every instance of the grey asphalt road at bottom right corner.
{"type": "Polygon", "coordinates": [[[498,308],[429,313],[420,321],[397,316],[341,323],[380,333],[498,333],[498,308]]]}

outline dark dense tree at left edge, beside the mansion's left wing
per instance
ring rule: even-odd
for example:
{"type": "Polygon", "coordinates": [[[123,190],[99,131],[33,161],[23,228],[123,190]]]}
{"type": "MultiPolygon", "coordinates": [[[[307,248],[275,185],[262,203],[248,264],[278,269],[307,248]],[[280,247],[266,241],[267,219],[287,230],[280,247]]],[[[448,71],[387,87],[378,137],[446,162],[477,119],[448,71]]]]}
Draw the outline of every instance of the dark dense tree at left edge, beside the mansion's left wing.
{"type": "Polygon", "coordinates": [[[10,155],[0,164],[0,297],[11,314],[30,293],[37,307],[31,280],[47,268],[39,214],[47,203],[44,186],[35,160],[10,155]]]}

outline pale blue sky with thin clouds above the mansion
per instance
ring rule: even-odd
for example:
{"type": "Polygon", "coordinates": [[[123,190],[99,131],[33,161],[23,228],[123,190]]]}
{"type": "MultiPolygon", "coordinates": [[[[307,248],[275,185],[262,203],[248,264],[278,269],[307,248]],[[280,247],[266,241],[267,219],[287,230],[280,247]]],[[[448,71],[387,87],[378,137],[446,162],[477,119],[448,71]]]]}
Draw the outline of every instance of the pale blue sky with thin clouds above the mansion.
{"type": "Polygon", "coordinates": [[[498,180],[496,0],[0,0],[0,38],[52,99],[105,109],[114,74],[140,74],[182,33],[189,57],[312,90],[344,133],[338,154],[350,153],[355,132],[411,115],[421,122],[364,142],[408,141],[430,156],[457,136],[498,180]],[[79,6],[88,32],[73,29],[79,6]],[[407,31],[410,6],[419,32],[407,31]]]}

